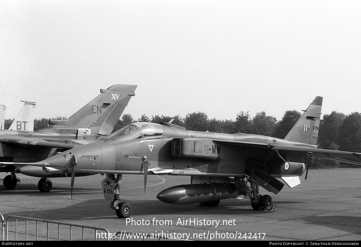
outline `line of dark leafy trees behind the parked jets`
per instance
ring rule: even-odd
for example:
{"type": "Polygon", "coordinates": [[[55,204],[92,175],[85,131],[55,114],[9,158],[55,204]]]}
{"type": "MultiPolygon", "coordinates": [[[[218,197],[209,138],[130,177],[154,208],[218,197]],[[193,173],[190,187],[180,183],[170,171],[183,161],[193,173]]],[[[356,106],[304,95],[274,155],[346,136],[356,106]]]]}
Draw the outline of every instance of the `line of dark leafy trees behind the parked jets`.
{"type": "MultiPolygon", "coordinates": [[[[188,113],[184,118],[179,115],[163,116],[155,115],[148,117],[143,114],[137,120],[133,119],[131,114],[123,114],[118,120],[114,131],[133,122],[169,122],[173,119],[174,124],[186,127],[187,130],[209,131],[216,133],[245,133],[273,136],[284,139],[293,125],[300,118],[301,113],[297,110],[286,110],[281,120],[273,116],[268,116],[264,111],[256,113],[251,117],[248,112],[240,112],[236,120],[219,120],[208,118],[204,112],[188,113]]],[[[56,117],[55,119],[66,119],[65,117],[56,117]]],[[[5,129],[8,129],[13,119],[5,120],[5,129]]],[[[34,130],[42,129],[48,126],[47,118],[35,119],[34,130]]],[[[337,111],[331,114],[324,114],[320,122],[318,133],[318,148],[340,151],[361,152],[361,114],[353,112],[345,115],[337,111]]],[[[336,161],[316,159],[310,168],[345,168],[358,167],[357,165],[340,164],[336,161]]]]}

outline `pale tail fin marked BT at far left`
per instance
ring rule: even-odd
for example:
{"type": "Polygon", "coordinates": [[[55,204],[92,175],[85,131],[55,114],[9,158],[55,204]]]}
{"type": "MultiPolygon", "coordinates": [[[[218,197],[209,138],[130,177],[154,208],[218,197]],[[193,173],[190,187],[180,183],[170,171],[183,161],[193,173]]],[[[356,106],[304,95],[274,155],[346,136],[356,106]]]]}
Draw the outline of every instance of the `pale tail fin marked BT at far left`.
{"type": "Polygon", "coordinates": [[[9,130],[28,130],[34,131],[35,103],[31,101],[20,100],[24,102],[9,130]]]}

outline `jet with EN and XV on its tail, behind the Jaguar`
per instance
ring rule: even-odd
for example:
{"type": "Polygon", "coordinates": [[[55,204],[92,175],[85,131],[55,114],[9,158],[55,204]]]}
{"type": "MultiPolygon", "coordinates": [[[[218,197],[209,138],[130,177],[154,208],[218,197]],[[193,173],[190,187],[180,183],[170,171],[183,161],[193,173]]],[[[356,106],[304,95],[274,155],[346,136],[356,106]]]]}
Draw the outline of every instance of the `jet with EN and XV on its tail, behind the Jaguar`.
{"type": "MultiPolygon", "coordinates": [[[[53,153],[62,152],[79,144],[93,142],[112,133],[136,85],[117,84],[101,89],[101,94],[86,104],[66,120],[49,120],[49,127],[38,131],[0,131],[0,160],[14,162],[33,162],[44,160],[53,153]]],[[[34,121],[34,120],[33,120],[34,121]]],[[[62,171],[45,173],[35,166],[0,166],[0,172],[10,172],[4,178],[5,188],[14,188],[19,179],[16,173],[42,177],[38,188],[42,192],[50,191],[52,182],[49,177],[66,176],[62,171]]],[[[94,173],[77,173],[92,175],[94,173]]]]}

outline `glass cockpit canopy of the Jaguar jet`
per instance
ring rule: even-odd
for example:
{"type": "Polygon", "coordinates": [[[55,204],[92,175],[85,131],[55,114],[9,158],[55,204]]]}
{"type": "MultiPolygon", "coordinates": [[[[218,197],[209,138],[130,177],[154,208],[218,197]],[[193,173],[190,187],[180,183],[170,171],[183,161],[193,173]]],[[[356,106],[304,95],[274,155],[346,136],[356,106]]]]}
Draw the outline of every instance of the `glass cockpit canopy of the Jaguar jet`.
{"type": "Polygon", "coordinates": [[[136,122],[122,127],[113,134],[103,138],[110,140],[131,140],[137,138],[156,138],[163,135],[163,127],[158,123],[136,122]]]}

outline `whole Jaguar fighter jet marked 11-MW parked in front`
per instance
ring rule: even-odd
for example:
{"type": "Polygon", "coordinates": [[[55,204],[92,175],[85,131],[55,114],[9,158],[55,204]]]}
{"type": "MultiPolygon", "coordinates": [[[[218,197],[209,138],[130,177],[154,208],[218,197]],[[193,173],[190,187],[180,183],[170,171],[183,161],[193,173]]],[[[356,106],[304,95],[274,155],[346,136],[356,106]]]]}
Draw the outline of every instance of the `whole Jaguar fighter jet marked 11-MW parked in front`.
{"type": "MultiPolygon", "coordinates": [[[[296,186],[314,158],[361,164],[360,153],[317,149],[321,105],[322,97],[316,97],[285,139],[136,122],[101,140],[31,165],[44,170],[118,174],[120,178],[121,174],[144,174],[144,189],[148,175],[186,175],[191,176],[191,184],[167,188],[157,198],[170,204],[216,206],[221,199],[248,195],[253,209],[271,211],[272,198],[260,195],[259,186],[274,194],[284,186],[277,178],[296,186]]],[[[102,181],[105,198],[111,199],[114,183],[121,182],[118,177],[102,181]]],[[[113,208],[118,217],[131,214],[125,202],[113,208]]]]}

